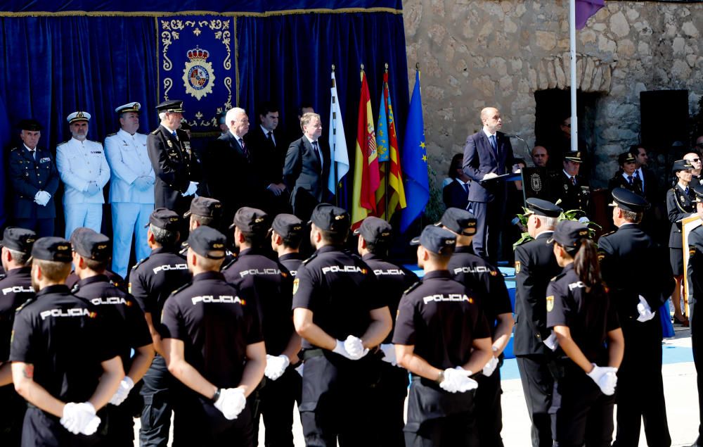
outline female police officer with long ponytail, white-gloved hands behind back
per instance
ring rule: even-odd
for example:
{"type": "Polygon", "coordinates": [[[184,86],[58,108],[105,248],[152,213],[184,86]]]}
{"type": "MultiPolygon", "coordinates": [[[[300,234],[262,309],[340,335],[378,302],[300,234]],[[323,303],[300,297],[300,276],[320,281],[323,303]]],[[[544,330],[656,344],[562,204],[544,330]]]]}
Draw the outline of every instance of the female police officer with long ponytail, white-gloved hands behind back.
{"type": "Polygon", "coordinates": [[[624,351],[617,310],[600,279],[588,228],[562,220],[550,239],[564,269],[549,283],[546,298],[547,328],[559,342],[549,409],[553,445],[610,446],[616,372],[624,351]]]}

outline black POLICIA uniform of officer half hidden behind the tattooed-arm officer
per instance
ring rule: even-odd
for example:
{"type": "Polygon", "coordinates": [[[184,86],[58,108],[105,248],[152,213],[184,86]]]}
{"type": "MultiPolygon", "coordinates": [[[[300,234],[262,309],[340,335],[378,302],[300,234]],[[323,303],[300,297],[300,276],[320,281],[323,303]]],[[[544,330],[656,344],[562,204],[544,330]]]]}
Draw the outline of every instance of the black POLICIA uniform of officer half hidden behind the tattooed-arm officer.
{"type": "MultiPolygon", "coordinates": [[[[127,374],[131,366],[131,350],[136,351],[137,348],[152,342],[144,313],[134,297],[110,283],[110,279],[105,275],[81,279],[73,287],[72,294],[84,298],[98,307],[98,310],[104,311],[105,319],[110,320],[110,327],[119,335],[117,344],[124,374],[127,374]]],[[[141,414],[142,405],[143,401],[138,398],[134,389],[122,404],[108,405],[108,423],[99,446],[134,446],[134,416],[141,414]]]]}

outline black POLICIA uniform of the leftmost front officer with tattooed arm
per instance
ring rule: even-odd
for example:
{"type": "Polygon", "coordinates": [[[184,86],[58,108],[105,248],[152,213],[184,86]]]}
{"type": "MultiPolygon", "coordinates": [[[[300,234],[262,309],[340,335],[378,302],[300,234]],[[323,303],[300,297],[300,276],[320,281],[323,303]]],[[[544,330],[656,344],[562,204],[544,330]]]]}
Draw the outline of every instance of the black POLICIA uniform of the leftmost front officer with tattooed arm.
{"type": "MultiPolygon", "coordinates": [[[[10,360],[34,365],[34,382],[60,401],[88,401],[103,374],[101,363],[118,355],[102,314],[64,284],[44,287],[15,315],[10,360]]],[[[93,446],[98,436],[71,434],[58,417],[29,405],[22,446],[93,446]]]]}

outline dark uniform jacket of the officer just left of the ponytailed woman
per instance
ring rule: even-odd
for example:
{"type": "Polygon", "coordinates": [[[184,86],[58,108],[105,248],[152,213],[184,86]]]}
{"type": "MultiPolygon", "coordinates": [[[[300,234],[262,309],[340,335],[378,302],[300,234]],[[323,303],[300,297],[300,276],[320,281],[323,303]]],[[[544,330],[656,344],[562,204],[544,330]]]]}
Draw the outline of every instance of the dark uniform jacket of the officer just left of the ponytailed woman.
{"type": "Polygon", "coordinates": [[[554,257],[551,232],[515,247],[515,355],[547,354],[547,286],[562,268],[554,257]]]}

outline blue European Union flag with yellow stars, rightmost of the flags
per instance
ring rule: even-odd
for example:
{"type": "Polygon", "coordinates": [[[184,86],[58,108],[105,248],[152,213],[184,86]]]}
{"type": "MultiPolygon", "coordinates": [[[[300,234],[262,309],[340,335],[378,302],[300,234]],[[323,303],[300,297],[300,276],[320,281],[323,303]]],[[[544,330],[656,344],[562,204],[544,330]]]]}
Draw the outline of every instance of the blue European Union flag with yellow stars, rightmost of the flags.
{"type": "Polygon", "coordinates": [[[408,123],[403,146],[403,171],[407,207],[402,211],[400,230],[405,232],[423,212],[430,199],[430,179],[427,176],[427,149],[425,149],[425,123],[423,99],[420,96],[420,70],[415,72],[415,87],[410,100],[408,123]]]}

